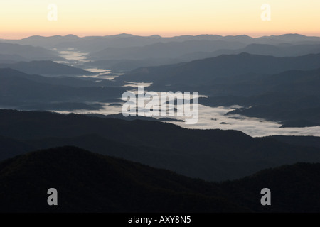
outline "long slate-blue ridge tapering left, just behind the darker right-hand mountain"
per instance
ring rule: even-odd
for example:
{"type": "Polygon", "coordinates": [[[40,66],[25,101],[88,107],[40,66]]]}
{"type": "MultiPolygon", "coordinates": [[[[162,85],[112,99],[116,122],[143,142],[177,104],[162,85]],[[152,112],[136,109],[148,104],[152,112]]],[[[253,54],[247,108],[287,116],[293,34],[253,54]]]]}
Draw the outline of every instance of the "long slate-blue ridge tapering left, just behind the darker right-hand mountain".
{"type": "Polygon", "coordinates": [[[262,55],[220,55],[192,62],[159,67],[142,67],[128,72],[118,81],[154,82],[154,84],[214,84],[214,79],[246,73],[276,74],[287,70],[314,70],[320,67],[320,54],[299,57],[262,55]]]}

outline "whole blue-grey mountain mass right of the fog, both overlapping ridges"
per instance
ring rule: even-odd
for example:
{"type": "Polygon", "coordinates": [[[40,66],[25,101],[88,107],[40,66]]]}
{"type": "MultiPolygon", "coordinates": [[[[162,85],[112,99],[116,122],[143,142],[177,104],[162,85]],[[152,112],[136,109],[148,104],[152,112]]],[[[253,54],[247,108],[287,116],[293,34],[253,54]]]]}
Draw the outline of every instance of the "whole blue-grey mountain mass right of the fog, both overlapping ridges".
{"type": "Polygon", "coordinates": [[[320,55],[220,55],[176,65],[142,67],[118,81],[153,82],[155,91],[198,91],[208,106],[240,105],[229,114],[266,118],[284,127],[320,125],[320,55]],[[249,108],[250,107],[250,108],[249,108]]]}

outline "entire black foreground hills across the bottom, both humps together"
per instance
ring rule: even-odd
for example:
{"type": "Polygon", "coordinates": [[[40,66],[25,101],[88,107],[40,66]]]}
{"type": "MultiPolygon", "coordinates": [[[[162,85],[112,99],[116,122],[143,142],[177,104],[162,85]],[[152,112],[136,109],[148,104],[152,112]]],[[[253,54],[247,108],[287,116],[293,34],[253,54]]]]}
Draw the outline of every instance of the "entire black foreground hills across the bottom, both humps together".
{"type": "Polygon", "coordinates": [[[319,212],[320,164],[299,163],[232,182],[205,182],[75,147],[0,162],[3,212],[319,212]],[[263,188],[271,206],[262,206],[263,188]],[[47,191],[58,191],[48,206],[47,191]]]}

